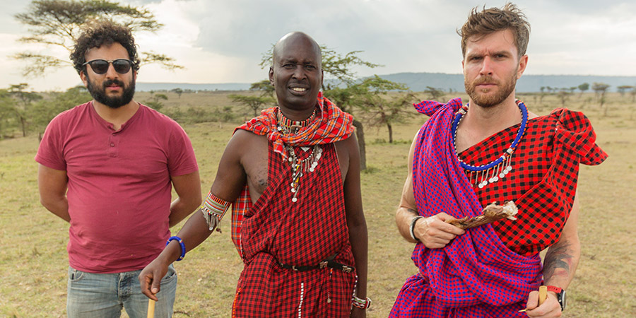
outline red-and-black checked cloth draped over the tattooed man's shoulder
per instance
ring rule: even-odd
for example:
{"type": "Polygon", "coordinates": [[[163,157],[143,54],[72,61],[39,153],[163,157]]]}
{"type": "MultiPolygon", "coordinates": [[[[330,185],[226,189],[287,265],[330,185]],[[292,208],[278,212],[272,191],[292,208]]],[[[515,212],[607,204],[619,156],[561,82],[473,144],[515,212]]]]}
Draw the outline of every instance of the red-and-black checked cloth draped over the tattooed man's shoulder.
{"type": "MultiPolygon", "coordinates": [[[[497,132],[459,154],[464,163],[483,165],[499,157],[519,124],[497,132]]],[[[526,134],[512,155],[512,171],[483,189],[473,185],[482,206],[514,200],[517,220],[493,223],[497,236],[514,252],[531,256],[559,240],[574,202],[579,162],[599,165],[607,154],[581,112],[554,110],[529,119],[526,134]]]]}

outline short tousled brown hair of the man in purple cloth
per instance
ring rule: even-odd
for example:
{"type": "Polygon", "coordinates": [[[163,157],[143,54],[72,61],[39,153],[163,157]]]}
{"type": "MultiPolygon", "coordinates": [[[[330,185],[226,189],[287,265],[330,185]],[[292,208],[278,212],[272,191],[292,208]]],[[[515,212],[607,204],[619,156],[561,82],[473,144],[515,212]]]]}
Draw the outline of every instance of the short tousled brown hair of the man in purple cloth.
{"type": "Polygon", "coordinates": [[[512,31],[519,57],[524,56],[530,40],[530,23],[517,6],[508,2],[503,8],[484,7],[481,12],[478,11],[478,7],[473,8],[464,26],[457,30],[457,34],[461,36],[461,56],[466,55],[466,42],[469,37],[481,37],[502,30],[512,31]]]}

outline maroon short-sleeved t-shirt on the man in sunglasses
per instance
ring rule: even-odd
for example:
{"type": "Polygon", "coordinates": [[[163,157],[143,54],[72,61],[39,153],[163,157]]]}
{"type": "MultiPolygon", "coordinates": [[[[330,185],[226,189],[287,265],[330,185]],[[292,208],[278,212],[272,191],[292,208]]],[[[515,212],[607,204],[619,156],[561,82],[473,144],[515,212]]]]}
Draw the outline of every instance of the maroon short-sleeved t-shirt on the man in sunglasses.
{"type": "Polygon", "coordinates": [[[134,271],[157,257],[170,237],[170,177],[199,169],[174,120],[141,105],[115,131],[93,102],[57,115],[35,160],[66,171],[69,262],[91,273],[134,271]]]}

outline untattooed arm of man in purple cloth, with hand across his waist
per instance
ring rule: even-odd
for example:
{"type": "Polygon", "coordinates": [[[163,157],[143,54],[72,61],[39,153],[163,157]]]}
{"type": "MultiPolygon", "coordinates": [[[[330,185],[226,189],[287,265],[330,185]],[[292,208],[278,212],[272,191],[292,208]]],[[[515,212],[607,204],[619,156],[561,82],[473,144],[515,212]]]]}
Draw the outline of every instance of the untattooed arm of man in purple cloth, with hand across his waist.
{"type": "MultiPolygon", "coordinates": [[[[406,182],[404,182],[404,188],[402,189],[400,206],[395,213],[395,222],[400,234],[405,240],[412,243],[415,243],[416,240],[411,237],[411,222],[413,218],[419,216],[418,205],[413,194],[413,153],[415,153],[416,141],[417,134],[416,138],[413,139],[413,143],[411,143],[411,150],[408,151],[408,175],[406,175],[406,182]]],[[[457,235],[464,234],[464,230],[444,222],[451,219],[453,217],[446,213],[437,213],[435,216],[420,218],[416,221],[413,234],[423,242],[425,247],[430,249],[442,248],[457,235]]]]}

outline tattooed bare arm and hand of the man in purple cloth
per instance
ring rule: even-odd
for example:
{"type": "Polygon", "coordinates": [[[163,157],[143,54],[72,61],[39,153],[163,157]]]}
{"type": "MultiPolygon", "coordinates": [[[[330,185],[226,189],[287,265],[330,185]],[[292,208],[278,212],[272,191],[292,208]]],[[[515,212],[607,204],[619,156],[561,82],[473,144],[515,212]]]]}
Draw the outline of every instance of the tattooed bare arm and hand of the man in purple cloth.
{"type": "MultiPolygon", "coordinates": [[[[543,260],[543,285],[552,285],[567,290],[572,282],[581,258],[581,243],[577,231],[579,220],[579,196],[575,196],[572,203],[570,217],[567,218],[558,242],[548,247],[543,260]]],[[[533,291],[528,297],[529,317],[560,317],[561,307],[556,293],[548,292],[548,299],[543,305],[538,305],[538,292],[533,291]],[[533,310],[534,309],[534,310],[533,310]]]]}

